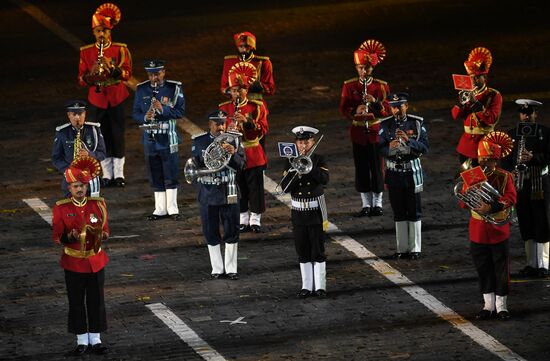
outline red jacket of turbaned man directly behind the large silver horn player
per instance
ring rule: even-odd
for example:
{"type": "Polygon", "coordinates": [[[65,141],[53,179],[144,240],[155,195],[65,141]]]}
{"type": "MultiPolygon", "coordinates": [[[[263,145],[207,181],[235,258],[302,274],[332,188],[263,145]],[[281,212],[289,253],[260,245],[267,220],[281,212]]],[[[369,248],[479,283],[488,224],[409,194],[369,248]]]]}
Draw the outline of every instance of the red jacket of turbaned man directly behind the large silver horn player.
{"type": "MultiPolygon", "coordinates": [[[[228,101],[219,105],[220,110],[227,113],[227,124],[231,124],[233,115],[235,114],[235,104],[228,101]]],[[[259,100],[247,100],[246,104],[239,107],[239,113],[247,118],[252,119],[254,126],[247,128],[243,124],[239,124],[239,131],[243,133],[243,147],[246,155],[246,167],[250,169],[254,167],[265,166],[267,157],[264,149],[260,144],[260,139],[267,133],[267,110],[263,103],[259,100]]]]}

